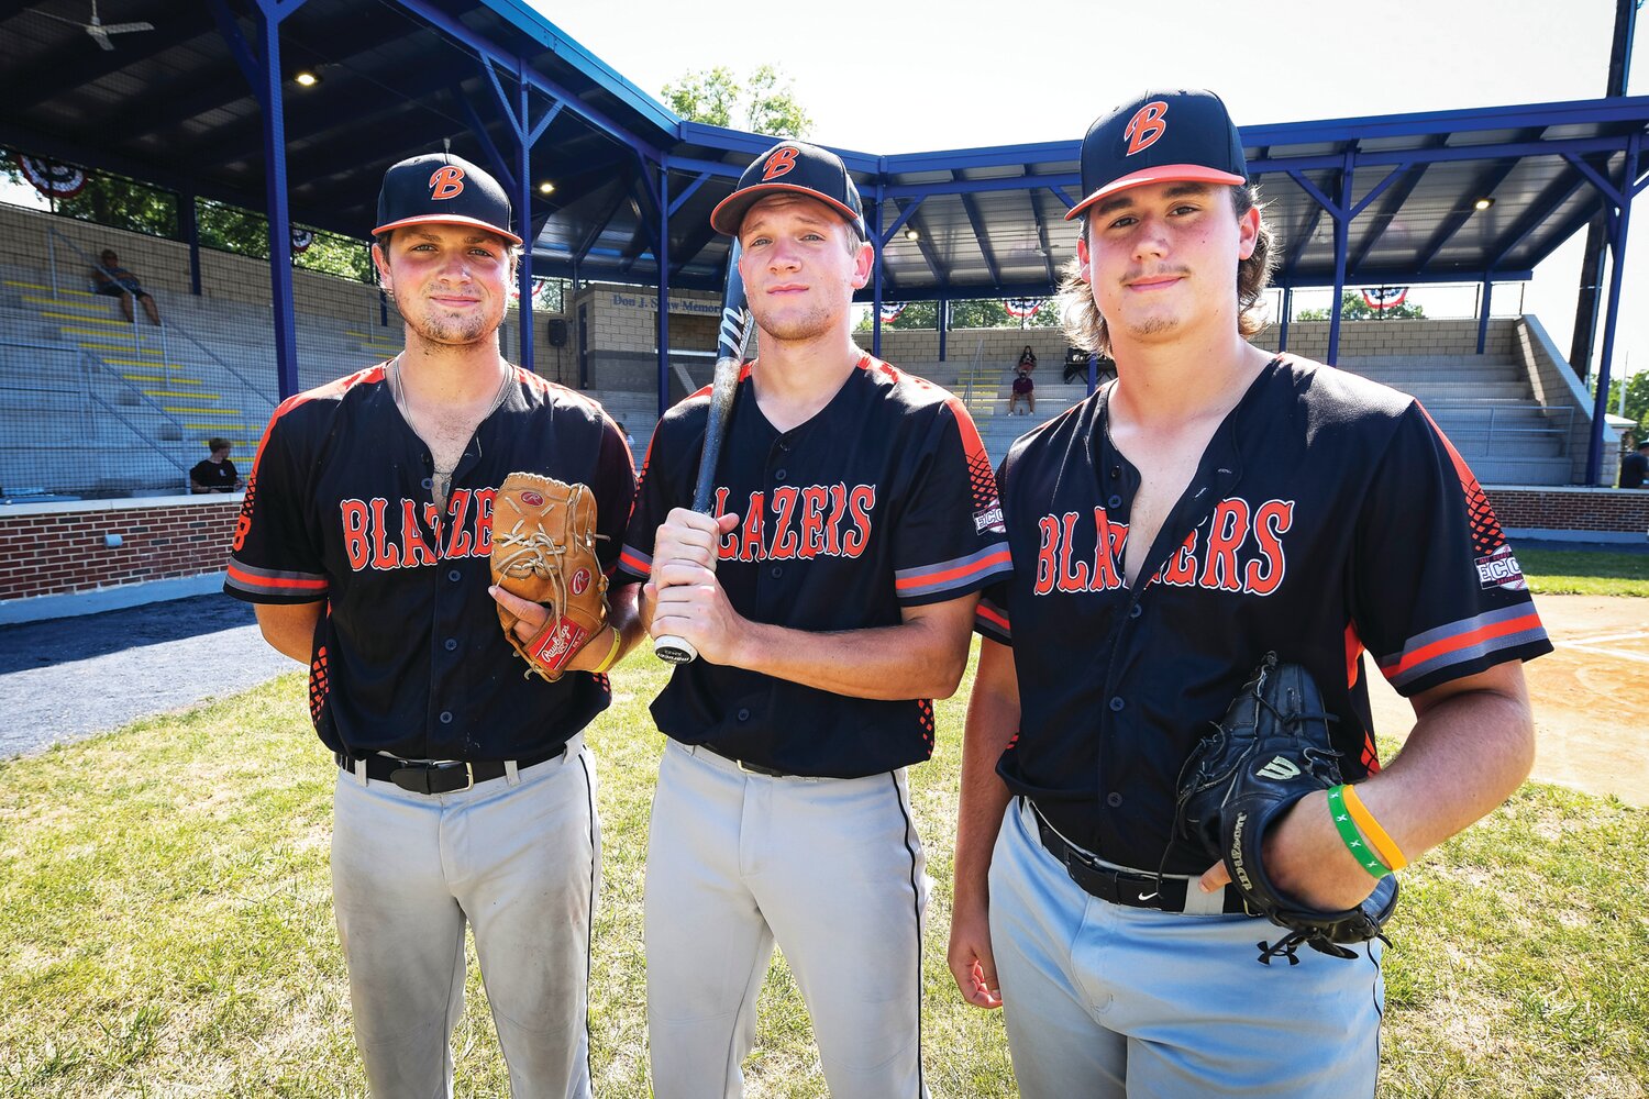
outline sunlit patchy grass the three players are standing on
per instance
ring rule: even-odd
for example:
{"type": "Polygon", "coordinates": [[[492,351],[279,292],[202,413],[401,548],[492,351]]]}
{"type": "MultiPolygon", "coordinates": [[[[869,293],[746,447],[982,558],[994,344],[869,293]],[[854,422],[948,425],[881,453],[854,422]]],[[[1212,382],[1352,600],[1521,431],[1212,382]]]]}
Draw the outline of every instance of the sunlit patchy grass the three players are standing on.
{"type": "MultiPolygon", "coordinates": [[[[590,730],[605,832],[592,1035],[600,1096],[646,1096],[641,870],[665,669],[635,656],[590,730]]],[[[970,672],[971,682],[971,672],[970,672]]],[[[943,962],[966,682],[912,801],[938,882],[935,1097],[1012,1096],[1001,1018],[943,962]]],[[[0,1096],[361,1096],[331,919],[333,768],[298,676],[0,765],[0,1096]]],[[[1649,812],[1547,786],[1405,872],[1382,1096],[1644,1096],[1649,812]]],[[[457,1094],[506,1079],[472,967],[457,1094]]],[[[775,959],[749,1096],[821,1096],[775,959]]]]}

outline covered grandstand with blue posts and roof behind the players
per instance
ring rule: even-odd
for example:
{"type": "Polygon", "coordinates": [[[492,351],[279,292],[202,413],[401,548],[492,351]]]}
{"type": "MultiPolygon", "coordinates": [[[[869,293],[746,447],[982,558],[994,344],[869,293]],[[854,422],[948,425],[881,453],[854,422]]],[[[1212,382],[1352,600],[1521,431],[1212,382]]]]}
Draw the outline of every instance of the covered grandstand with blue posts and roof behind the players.
{"type": "MultiPolygon", "coordinates": [[[[208,435],[249,458],[279,399],[392,354],[392,306],[371,285],[295,272],[292,229],[359,239],[383,168],[442,142],[506,183],[531,241],[506,354],[599,395],[643,443],[702,382],[727,255],[709,209],[770,138],[676,117],[516,0],[109,0],[106,20],[155,25],[112,51],[49,18],[71,8],[0,12],[0,64],[23,89],[0,104],[0,145],[165,188],[180,224],[160,239],[0,208],[7,491],[178,491],[208,435]],[[267,214],[269,260],[204,247],[201,201],[267,214]],[[89,293],[109,244],[158,295],[160,330],[89,293]],[[534,277],[566,280],[554,311],[534,303],[534,277]]],[[[1496,287],[1596,217],[1623,254],[1649,183],[1649,97],[1242,133],[1281,237],[1278,323],[1261,343],[1421,395],[1486,483],[1611,481],[1601,404],[1537,318],[1494,315],[1496,287]],[[1291,320],[1303,288],[1337,302],[1344,287],[1445,282],[1479,287],[1476,320],[1291,320]]],[[[866,302],[1047,295],[1073,249],[1077,147],[838,150],[877,247],[866,302]]],[[[1619,288],[1616,262],[1603,394],[1619,288]]],[[[869,349],[963,394],[998,451],[1026,423],[999,415],[1019,344],[1065,356],[1055,330],[884,331],[871,316],[869,349]]],[[[1044,372],[1037,412],[1087,392],[1044,372]]]]}

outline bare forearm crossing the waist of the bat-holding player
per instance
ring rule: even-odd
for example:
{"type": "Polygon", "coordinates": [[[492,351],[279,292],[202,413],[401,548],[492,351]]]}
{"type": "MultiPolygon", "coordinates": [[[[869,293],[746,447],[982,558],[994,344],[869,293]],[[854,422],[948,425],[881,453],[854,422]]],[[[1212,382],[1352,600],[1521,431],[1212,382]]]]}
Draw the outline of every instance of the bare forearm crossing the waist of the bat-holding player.
{"type": "Polygon", "coordinates": [[[956,643],[928,621],[810,633],[749,623],[732,664],[853,699],[948,699],[968,666],[956,643]]]}

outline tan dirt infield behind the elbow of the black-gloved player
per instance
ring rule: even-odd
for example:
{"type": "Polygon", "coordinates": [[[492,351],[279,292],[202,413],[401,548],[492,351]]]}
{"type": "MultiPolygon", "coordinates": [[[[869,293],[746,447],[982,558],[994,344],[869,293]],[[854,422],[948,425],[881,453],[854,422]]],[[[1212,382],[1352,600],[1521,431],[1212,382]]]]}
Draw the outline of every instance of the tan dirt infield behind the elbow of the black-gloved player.
{"type": "MultiPolygon", "coordinates": [[[[1532,778],[1649,806],[1649,600],[1542,595],[1557,651],[1524,666],[1535,709],[1532,778]]],[[[1415,715],[1370,676],[1374,723],[1405,732],[1415,715]]]]}

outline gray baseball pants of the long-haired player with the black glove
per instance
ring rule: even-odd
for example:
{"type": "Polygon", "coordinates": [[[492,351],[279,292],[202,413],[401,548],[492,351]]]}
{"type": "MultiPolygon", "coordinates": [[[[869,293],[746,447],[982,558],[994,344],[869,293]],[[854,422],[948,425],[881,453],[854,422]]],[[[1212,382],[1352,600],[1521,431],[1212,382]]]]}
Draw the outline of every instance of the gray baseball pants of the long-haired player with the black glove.
{"type": "Polygon", "coordinates": [[[991,951],[1024,1099],[1374,1096],[1379,942],[1261,966],[1255,944],[1281,928],[1090,896],[1031,812],[1009,802],[991,855],[991,951]]]}

